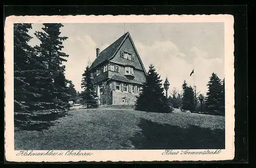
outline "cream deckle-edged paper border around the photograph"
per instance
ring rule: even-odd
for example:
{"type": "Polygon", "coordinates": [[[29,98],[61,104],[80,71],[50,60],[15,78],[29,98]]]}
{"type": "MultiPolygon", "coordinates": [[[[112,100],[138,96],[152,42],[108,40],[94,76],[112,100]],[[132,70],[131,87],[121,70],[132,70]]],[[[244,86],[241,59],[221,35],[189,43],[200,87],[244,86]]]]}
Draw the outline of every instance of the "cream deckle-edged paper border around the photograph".
{"type": "MultiPolygon", "coordinates": [[[[232,15],[77,15],[77,16],[9,16],[5,21],[5,156],[15,162],[68,161],[212,161],[234,158],[234,43],[232,15]],[[13,23],[110,23],[110,22],[224,22],[225,25],[225,149],[219,154],[162,155],[164,150],[93,150],[91,156],[21,156],[14,150],[13,118],[13,23]]],[[[207,150],[189,150],[207,151],[207,150]]],[[[216,151],[216,150],[210,150],[216,151]]],[[[31,152],[31,151],[29,151],[31,152]]],[[[47,151],[33,151],[33,153],[47,151]]],[[[74,151],[78,152],[78,151],[74,151]]]]}

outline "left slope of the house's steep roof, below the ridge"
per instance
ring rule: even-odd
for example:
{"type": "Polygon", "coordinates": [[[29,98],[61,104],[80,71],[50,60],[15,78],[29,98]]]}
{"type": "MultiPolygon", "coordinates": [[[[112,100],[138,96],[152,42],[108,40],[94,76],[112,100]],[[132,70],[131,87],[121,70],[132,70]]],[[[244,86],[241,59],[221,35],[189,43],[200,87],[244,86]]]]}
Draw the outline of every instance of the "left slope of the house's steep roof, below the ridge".
{"type": "Polygon", "coordinates": [[[115,42],[113,42],[110,46],[106,47],[105,50],[99,53],[99,56],[95,59],[95,61],[92,63],[90,68],[94,68],[95,66],[99,65],[100,63],[108,60],[111,58],[116,51],[119,49],[119,46],[122,44],[124,39],[127,37],[128,32],[122,35],[120,38],[118,38],[115,42]]]}

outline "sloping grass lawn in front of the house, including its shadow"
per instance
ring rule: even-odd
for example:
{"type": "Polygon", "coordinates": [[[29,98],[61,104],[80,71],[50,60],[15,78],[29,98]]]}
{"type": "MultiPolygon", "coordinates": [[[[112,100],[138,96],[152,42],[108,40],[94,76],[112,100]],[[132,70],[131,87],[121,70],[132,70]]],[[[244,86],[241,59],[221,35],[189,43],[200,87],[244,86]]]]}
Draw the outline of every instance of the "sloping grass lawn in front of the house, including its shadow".
{"type": "Polygon", "coordinates": [[[15,130],[15,150],[225,148],[223,116],[111,108],[68,114],[46,130],[15,130]]]}

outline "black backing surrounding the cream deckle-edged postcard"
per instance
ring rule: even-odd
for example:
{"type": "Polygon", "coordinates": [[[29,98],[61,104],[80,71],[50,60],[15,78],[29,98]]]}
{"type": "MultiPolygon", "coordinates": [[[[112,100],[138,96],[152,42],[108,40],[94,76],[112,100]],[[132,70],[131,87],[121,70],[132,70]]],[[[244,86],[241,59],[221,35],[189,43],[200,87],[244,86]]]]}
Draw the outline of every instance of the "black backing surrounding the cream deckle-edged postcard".
{"type": "MultiPolygon", "coordinates": [[[[248,70],[247,70],[247,6],[246,5],[222,5],[222,6],[4,6],[4,21],[10,15],[152,15],[152,14],[231,14],[234,16],[234,79],[235,79],[235,157],[229,161],[207,161],[207,162],[172,162],[172,163],[247,163],[248,162],[248,70]]],[[[3,32],[4,33],[4,32],[3,32]]],[[[3,45],[4,46],[4,45],[3,45]]],[[[4,51],[4,50],[3,50],[4,51]]],[[[4,71],[4,68],[3,68],[4,71]]],[[[4,73],[3,73],[4,74],[4,73]]],[[[4,83],[2,83],[4,86],[4,83]]],[[[4,92],[3,92],[4,94],[4,92]]],[[[4,95],[3,95],[4,97],[4,95]]],[[[1,117],[4,123],[4,113],[1,117]]],[[[1,162],[7,162],[4,156],[4,129],[1,162]]],[[[74,162],[70,162],[74,163],[74,162]]],[[[100,162],[77,162],[97,163],[100,162]]],[[[117,163],[159,163],[169,162],[102,162],[117,163]]],[[[22,163],[27,164],[27,163],[22,163]]],[[[34,163],[35,164],[35,163],[34,163]]],[[[60,163],[48,165],[59,166],[60,163]],[[57,164],[57,165],[56,165],[57,164]]],[[[62,163],[62,165],[66,163],[62,163]]],[[[37,166],[42,163],[37,163],[37,166]]],[[[102,165],[102,164],[100,164],[102,165]]],[[[159,164],[160,165],[160,164],[159,164]]],[[[158,166],[159,166],[158,165],[158,166]]],[[[29,166],[29,165],[26,165],[29,166]]],[[[78,165],[76,165],[78,166],[78,165]]],[[[81,164],[79,164],[81,166],[81,164]]],[[[183,165],[180,165],[183,166],[183,165]]],[[[191,167],[196,165],[191,165],[191,167]]],[[[205,166],[209,166],[206,164],[205,166]]]]}

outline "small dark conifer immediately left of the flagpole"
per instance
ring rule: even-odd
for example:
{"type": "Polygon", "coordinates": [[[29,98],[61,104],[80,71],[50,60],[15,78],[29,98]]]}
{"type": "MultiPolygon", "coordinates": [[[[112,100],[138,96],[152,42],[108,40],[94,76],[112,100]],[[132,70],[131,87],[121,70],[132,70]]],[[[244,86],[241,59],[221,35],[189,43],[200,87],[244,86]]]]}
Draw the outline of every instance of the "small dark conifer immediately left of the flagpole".
{"type": "Polygon", "coordinates": [[[182,110],[189,110],[191,112],[195,111],[195,102],[194,102],[194,90],[191,86],[188,86],[186,81],[182,84],[182,110]]]}

